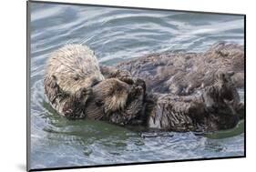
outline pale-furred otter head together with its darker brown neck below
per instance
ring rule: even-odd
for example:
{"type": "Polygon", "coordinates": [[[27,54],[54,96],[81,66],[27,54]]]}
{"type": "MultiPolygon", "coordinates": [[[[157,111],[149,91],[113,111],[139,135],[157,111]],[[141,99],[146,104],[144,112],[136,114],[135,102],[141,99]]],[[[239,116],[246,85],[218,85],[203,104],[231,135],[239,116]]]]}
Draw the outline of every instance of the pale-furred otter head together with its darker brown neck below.
{"type": "Polygon", "coordinates": [[[56,111],[71,118],[82,118],[92,86],[102,81],[97,57],[87,46],[67,45],[48,59],[44,86],[56,111]]]}

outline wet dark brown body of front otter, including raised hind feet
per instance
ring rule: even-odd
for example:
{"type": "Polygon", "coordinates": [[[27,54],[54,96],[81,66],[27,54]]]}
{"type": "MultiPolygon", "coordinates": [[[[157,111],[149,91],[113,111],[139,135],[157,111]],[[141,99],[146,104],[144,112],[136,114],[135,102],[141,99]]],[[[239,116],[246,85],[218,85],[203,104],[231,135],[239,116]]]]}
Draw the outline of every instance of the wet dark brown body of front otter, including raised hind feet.
{"type": "Polygon", "coordinates": [[[225,73],[216,74],[214,84],[201,88],[197,94],[153,94],[150,98],[154,99],[148,110],[148,127],[151,128],[216,131],[234,127],[243,118],[243,104],[230,75],[225,73]]]}

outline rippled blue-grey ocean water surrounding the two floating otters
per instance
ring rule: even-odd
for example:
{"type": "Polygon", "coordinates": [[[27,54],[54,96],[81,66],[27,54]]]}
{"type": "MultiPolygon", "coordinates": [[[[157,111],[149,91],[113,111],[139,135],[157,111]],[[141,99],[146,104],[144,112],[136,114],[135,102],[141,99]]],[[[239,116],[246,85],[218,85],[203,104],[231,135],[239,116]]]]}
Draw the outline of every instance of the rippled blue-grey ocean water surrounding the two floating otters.
{"type": "MultiPolygon", "coordinates": [[[[46,59],[61,46],[87,45],[105,65],[166,50],[201,52],[220,41],[242,45],[243,16],[30,5],[31,168],[244,155],[242,122],[224,137],[221,132],[210,137],[191,132],[139,132],[102,121],[71,121],[56,114],[43,88],[46,59]]],[[[242,101],[243,94],[241,89],[242,101]]]]}

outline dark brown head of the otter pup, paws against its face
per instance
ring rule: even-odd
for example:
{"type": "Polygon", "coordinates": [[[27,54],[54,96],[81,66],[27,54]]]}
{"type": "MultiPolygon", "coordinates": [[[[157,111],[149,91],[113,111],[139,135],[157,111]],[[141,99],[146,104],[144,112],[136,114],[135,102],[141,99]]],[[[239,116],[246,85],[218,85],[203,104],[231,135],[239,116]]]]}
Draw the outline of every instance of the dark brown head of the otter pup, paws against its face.
{"type": "Polygon", "coordinates": [[[107,78],[93,86],[85,114],[88,119],[107,120],[118,125],[138,124],[143,119],[145,82],[135,79],[128,85],[118,78],[107,78]]]}

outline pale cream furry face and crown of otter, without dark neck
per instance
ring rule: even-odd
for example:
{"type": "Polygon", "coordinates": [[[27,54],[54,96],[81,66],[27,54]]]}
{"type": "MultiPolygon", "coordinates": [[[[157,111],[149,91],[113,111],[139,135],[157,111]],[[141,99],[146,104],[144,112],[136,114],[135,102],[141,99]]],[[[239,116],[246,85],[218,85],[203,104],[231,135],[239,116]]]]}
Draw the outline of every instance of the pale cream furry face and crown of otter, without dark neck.
{"type": "Polygon", "coordinates": [[[77,91],[87,92],[83,89],[104,79],[94,52],[81,45],[64,46],[53,53],[48,60],[46,76],[54,79],[59,89],[71,96],[77,91]]]}

